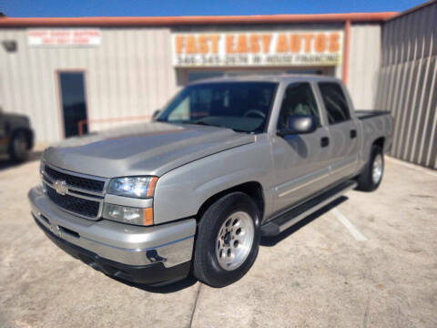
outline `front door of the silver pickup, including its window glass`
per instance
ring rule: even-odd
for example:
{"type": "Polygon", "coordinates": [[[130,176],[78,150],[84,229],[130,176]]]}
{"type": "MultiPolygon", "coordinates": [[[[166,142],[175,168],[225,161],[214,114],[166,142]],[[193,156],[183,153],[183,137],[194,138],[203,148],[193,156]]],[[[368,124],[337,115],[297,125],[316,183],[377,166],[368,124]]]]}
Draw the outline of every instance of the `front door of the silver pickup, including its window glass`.
{"type": "Polygon", "coordinates": [[[311,115],[318,128],[308,134],[275,136],[272,140],[275,167],[275,211],[287,210],[329,184],[329,130],[322,123],[320,108],[308,82],[295,82],[283,93],[278,128],[290,115],[311,115]],[[328,142],[326,142],[328,140],[328,142]]]}

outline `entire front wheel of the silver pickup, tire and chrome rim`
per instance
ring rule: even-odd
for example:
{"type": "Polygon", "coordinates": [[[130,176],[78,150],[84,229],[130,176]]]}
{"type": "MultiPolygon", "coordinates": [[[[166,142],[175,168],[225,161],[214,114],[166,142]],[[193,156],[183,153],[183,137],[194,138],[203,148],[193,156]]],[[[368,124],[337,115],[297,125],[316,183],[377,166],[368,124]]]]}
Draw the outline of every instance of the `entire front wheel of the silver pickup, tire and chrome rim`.
{"type": "Polygon", "coordinates": [[[224,287],[244,276],[258,255],[260,220],[257,205],[245,193],[232,192],[214,202],[198,223],[195,277],[224,287]]]}

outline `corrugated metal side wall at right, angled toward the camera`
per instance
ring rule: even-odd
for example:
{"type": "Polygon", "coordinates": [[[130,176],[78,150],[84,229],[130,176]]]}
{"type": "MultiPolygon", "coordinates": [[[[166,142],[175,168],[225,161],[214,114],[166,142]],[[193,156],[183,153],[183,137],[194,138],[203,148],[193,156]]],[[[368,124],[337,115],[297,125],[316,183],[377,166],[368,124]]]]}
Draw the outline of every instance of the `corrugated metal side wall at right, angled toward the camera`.
{"type": "Polygon", "coordinates": [[[391,155],[437,169],[437,3],[382,26],[376,108],[394,118],[391,155]]]}

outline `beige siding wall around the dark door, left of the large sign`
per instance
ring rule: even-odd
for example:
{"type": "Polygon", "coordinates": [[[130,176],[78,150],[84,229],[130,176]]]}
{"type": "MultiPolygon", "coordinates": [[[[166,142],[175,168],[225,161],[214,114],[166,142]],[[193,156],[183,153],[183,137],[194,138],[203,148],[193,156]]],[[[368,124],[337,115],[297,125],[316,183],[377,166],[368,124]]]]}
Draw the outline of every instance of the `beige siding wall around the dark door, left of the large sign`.
{"type": "MultiPolygon", "coordinates": [[[[27,46],[25,29],[2,29],[15,53],[0,48],[0,106],[31,118],[36,142],[61,138],[56,70],[86,71],[88,118],[151,115],[177,90],[168,28],[102,28],[102,44],[86,48],[27,46]]],[[[118,123],[92,124],[110,128],[118,123]]]]}

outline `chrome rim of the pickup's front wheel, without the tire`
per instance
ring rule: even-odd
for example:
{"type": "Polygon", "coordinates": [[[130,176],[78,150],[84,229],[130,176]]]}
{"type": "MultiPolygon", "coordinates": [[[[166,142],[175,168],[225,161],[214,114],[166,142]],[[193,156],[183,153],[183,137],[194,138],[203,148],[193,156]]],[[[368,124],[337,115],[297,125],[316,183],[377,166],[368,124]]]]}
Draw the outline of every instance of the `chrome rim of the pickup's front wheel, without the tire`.
{"type": "Polygon", "coordinates": [[[216,240],[216,256],[222,269],[232,271],[246,261],[252,249],[254,232],[253,220],[247,212],[229,215],[216,240]]]}

